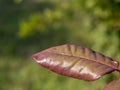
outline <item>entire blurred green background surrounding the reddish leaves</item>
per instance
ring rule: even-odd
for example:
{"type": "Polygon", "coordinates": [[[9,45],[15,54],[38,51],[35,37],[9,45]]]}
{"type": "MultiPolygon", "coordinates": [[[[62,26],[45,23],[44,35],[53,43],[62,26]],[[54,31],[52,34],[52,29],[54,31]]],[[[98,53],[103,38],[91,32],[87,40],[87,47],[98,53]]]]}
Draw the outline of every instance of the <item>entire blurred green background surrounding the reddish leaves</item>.
{"type": "Polygon", "coordinates": [[[101,90],[119,74],[85,82],[32,60],[75,44],[120,60],[120,0],[0,0],[0,90],[101,90]]]}

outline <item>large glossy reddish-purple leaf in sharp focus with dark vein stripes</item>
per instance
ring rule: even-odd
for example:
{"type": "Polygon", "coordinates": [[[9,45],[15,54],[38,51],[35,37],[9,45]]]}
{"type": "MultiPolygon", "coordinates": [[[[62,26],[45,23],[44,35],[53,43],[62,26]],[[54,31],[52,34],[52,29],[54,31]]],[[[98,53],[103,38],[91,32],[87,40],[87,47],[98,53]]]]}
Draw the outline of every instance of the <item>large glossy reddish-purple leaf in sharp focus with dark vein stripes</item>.
{"type": "Polygon", "coordinates": [[[91,49],[61,45],[33,55],[41,66],[58,74],[93,81],[118,70],[118,62],[91,49]]]}

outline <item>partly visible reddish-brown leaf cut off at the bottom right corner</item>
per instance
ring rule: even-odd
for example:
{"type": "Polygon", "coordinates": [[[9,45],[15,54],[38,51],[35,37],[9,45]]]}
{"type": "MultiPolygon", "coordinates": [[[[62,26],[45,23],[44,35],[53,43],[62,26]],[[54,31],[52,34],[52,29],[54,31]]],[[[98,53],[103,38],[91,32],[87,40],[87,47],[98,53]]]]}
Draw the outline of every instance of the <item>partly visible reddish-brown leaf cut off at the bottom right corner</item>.
{"type": "Polygon", "coordinates": [[[110,82],[104,90],[120,90],[120,79],[110,82]]]}

